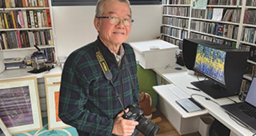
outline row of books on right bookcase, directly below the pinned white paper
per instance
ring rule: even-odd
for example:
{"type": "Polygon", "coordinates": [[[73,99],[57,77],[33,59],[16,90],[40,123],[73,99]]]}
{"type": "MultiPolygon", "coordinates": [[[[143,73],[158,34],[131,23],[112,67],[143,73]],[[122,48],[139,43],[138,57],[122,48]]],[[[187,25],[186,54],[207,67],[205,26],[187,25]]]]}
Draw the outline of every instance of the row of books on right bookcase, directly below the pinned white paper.
{"type": "Polygon", "coordinates": [[[239,26],[192,20],[190,28],[195,31],[236,40],[239,26]]]}

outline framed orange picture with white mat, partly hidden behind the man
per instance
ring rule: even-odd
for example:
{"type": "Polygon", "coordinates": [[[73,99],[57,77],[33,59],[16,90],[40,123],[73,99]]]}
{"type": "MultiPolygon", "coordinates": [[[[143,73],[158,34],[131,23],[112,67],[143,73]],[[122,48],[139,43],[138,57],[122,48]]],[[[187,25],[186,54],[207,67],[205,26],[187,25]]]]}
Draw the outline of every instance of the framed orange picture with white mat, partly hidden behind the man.
{"type": "Polygon", "coordinates": [[[53,85],[46,85],[46,99],[47,99],[47,112],[48,112],[48,129],[60,129],[63,127],[71,127],[66,125],[58,117],[58,105],[60,94],[60,83],[53,85]]]}

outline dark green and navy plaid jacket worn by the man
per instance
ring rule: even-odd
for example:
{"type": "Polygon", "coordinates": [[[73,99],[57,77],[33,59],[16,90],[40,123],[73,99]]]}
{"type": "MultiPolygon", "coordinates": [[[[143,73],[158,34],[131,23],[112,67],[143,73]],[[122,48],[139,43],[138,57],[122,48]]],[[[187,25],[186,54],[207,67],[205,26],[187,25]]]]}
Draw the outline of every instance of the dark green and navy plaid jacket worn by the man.
{"type": "Polygon", "coordinates": [[[98,37],[96,41],[73,51],[65,62],[61,77],[59,117],[64,123],[76,127],[79,134],[84,132],[85,135],[90,133],[90,136],[111,136],[114,119],[122,111],[122,107],[113,86],[105,78],[96,59],[95,45],[101,50],[113,74],[113,85],[121,96],[124,107],[137,103],[133,97],[131,79],[125,68],[127,66],[131,72],[136,96],[139,99],[133,49],[126,43],[122,44],[129,64],[125,64],[122,59],[119,68],[114,54],[98,37]]]}

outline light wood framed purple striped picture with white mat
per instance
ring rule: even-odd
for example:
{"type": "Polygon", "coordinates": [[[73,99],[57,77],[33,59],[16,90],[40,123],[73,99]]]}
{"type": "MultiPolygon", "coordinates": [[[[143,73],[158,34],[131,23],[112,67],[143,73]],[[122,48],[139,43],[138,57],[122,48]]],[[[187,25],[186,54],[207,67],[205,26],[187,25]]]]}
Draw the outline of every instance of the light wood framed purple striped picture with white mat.
{"type": "Polygon", "coordinates": [[[0,118],[12,134],[41,129],[36,77],[0,80],[0,118]]]}

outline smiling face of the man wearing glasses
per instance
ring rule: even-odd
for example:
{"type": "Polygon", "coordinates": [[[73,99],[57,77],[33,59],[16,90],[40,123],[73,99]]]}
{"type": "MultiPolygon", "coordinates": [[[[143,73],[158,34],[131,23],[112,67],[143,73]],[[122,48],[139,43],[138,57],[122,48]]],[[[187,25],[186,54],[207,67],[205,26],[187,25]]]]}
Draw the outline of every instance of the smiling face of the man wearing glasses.
{"type": "MultiPolygon", "coordinates": [[[[128,5],[126,3],[120,3],[118,0],[105,2],[102,16],[131,19],[128,5]]],[[[94,26],[99,31],[99,37],[105,44],[120,45],[127,40],[131,31],[131,26],[124,26],[122,21],[117,25],[112,25],[108,18],[95,18],[94,26]]]]}

